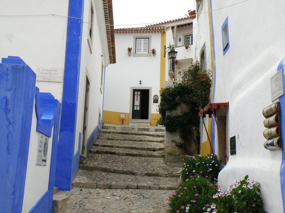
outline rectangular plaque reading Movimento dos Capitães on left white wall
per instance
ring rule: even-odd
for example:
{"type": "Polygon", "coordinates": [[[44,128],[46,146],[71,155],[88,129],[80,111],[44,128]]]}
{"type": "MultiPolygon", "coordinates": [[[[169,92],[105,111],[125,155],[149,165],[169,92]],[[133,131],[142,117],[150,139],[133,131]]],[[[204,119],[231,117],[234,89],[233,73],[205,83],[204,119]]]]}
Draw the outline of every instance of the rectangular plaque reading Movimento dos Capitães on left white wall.
{"type": "Polygon", "coordinates": [[[63,69],[38,68],[36,80],[37,81],[62,82],[62,71],[63,69]]]}

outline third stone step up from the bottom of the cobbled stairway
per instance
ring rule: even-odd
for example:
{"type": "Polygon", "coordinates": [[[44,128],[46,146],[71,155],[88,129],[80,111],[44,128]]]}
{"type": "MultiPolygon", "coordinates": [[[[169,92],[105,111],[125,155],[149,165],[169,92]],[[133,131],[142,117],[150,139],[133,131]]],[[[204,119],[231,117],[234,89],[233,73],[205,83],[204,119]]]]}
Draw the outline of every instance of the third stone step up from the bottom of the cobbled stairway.
{"type": "Polygon", "coordinates": [[[93,147],[89,150],[89,153],[98,154],[116,154],[125,156],[135,157],[148,157],[148,158],[164,158],[164,151],[144,151],[144,150],[133,150],[133,149],[120,149],[113,147],[93,147]]]}

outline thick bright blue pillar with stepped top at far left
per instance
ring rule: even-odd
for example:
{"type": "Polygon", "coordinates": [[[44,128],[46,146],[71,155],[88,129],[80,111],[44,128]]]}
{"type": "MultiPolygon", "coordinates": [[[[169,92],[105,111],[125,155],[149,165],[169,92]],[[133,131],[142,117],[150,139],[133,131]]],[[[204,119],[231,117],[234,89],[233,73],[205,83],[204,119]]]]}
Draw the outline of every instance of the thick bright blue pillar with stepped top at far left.
{"type": "Polygon", "coordinates": [[[21,212],[27,172],[36,74],[19,57],[0,64],[1,212],[21,212]]]}

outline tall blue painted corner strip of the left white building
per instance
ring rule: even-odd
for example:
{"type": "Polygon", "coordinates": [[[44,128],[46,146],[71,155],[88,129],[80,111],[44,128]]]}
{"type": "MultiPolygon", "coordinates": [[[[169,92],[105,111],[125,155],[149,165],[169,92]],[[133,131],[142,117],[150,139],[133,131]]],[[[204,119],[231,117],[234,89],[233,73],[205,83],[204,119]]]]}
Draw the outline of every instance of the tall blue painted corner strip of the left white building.
{"type": "Polygon", "coordinates": [[[60,137],[58,145],[55,185],[60,190],[70,190],[74,171],[74,144],[80,75],[84,0],[70,0],[68,8],[66,58],[60,137]],[[78,19],[76,19],[78,18],[78,19]]]}

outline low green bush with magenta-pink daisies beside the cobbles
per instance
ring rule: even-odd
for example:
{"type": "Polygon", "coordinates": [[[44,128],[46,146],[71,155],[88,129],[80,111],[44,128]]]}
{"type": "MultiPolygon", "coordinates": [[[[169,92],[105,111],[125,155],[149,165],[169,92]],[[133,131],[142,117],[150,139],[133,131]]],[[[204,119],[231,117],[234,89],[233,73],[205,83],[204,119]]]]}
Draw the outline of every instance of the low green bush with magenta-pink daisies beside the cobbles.
{"type": "MultiPolygon", "coordinates": [[[[213,203],[213,194],[217,192],[217,183],[199,175],[191,176],[178,185],[178,189],[166,198],[169,213],[203,213],[205,203],[213,203]]],[[[207,205],[209,206],[209,205],[207,205]]]]}

